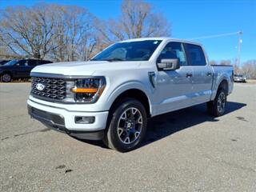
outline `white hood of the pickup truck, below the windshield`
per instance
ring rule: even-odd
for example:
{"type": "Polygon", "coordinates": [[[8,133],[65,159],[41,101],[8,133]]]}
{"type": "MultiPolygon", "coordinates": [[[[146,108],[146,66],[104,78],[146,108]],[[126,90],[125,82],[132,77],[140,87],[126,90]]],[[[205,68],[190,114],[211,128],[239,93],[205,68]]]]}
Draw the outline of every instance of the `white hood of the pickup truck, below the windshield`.
{"type": "Polygon", "coordinates": [[[139,62],[55,62],[36,66],[31,72],[64,75],[92,75],[95,71],[137,69],[139,62]]]}

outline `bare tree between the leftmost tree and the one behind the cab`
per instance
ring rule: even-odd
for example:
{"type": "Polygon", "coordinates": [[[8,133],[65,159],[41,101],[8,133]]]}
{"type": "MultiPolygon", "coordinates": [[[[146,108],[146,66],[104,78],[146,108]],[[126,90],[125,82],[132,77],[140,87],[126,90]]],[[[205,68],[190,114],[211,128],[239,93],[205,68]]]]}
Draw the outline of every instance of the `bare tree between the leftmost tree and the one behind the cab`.
{"type": "Polygon", "coordinates": [[[94,16],[78,6],[57,6],[56,27],[53,44],[58,45],[52,52],[57,61],[88,60],[96,44],[94,16]]]}

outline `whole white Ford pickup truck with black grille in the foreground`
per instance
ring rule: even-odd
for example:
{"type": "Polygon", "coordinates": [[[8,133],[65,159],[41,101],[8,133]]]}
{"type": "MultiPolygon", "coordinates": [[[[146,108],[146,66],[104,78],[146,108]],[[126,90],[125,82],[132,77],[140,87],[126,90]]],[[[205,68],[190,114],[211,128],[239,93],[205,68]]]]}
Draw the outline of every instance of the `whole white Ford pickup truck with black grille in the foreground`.
{"type": "Polygon", "coordinates": [[[224,114],[233,74],[232,66],[210,66],[198,43],[131,39],[89,62],[35,67],[28,111],[54,130],[123,152],[142,142],[148,118],[204,102],[210,114],[224,114]]]}

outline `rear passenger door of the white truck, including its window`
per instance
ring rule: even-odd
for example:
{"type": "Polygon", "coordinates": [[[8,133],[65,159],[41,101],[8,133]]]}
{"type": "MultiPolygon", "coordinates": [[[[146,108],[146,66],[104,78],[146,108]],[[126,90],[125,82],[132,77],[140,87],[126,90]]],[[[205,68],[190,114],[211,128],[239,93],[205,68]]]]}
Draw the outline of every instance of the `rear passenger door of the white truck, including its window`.
{"type": "Polygon", "coordinates": [[[186,56],[190,66],[193,66],[193,100],[194,104],[210,101],[212,92],[212,66],[206,62],[206,56],[201,46],[185,43],[186,56]]]}

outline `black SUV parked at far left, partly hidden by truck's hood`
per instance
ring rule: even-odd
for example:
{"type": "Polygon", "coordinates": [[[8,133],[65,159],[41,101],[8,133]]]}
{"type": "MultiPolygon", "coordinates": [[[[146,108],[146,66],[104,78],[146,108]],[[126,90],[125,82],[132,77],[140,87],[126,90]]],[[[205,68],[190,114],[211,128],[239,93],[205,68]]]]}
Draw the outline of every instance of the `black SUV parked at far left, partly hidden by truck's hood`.
{"type": "Polygon", "coordinates": [[[30,71],[38,65],[51,63],[46,60],[36,59],[14,59],[0,66],[1,82],[10,82],[12,79],[30,78],[30,71]]]}

